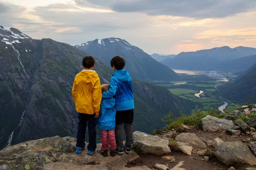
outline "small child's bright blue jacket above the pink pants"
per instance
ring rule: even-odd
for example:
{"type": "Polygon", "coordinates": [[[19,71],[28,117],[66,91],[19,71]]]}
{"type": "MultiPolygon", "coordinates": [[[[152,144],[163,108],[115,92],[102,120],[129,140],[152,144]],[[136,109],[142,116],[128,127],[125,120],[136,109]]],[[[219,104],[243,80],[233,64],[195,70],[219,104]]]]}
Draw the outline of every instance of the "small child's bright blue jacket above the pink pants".
{"type": "Polygon", "coordinates": [[[99,130],[113,130],[116,126],[115,98],[102,99],[98,118],[99,130]]]}

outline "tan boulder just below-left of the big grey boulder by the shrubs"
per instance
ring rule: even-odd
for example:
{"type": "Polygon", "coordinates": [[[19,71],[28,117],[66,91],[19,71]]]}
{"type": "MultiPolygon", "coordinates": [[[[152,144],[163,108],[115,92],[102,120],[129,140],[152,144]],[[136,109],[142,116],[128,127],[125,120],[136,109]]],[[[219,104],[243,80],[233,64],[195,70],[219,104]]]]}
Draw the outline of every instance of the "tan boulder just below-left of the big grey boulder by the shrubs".
{"type": "Polygon", "coordinates": [[[176,136],[175,141],[188,143],[196,147],[206,147],[206,144],[199,139],[195,133],[180,133],[178,136],[176,136]]]}

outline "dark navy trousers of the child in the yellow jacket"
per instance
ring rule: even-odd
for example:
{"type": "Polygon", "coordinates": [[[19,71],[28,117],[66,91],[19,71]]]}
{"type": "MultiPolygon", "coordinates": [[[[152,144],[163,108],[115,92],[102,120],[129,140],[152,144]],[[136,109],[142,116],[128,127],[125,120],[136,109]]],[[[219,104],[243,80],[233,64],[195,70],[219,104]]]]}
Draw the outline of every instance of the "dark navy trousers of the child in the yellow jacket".
{"type": "Polygon", "coordinates": [[[78,113],[78,130],[77,130],[77,139],[76,139],[76,147],[84,147],[85,146],[85,131],[88,122],[88,134],[89,134],[89,144],[87,149],[90,151],[96,150],[96,122],[95,122],[95,114],[86,114],[86,113],[78,113]]]}

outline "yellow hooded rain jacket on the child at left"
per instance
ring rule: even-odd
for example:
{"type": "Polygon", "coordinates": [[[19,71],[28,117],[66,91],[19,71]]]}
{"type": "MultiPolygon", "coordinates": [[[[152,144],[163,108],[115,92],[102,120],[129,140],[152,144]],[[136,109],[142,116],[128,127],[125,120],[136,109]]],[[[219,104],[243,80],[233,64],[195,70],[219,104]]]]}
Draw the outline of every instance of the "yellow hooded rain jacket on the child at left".
{"type": "Polygon", "coordinates": [[[99,113],[102,91],[99,75],[93,70],[82,70],[76,75],[72,96],[79,113],[99,113]]]}

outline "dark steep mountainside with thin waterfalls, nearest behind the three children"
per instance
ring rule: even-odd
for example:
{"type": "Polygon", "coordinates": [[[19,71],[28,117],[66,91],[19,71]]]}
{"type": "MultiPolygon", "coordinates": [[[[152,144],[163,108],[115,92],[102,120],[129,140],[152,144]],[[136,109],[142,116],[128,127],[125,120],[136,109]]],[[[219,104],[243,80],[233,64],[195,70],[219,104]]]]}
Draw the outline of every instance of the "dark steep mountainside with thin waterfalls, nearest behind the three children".
{"type": "MultiPolygon", "coordinates": [[[[76,136],[71,89],[85,55],[71,45],[33,40],[15,28],[1,27],[0,149],[47,136],[76,136]]],[[[112,68],[97,59],[95,70],[102,83],[109,82],[112,68]]],[[[169,111],[190,113],[195,107],[165,88],[136,80],[134,95],[134,130],[148,133],[163,126],[161,117],[169,111]]]]}

